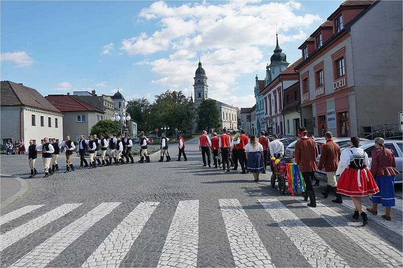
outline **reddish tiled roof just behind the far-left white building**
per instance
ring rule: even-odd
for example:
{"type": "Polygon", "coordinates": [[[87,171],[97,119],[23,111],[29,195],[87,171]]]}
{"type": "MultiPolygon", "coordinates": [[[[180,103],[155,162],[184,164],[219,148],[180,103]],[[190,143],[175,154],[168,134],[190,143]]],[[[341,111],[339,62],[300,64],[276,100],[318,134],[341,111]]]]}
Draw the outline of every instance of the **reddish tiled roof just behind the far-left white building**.
{"type": "Polygon", "coordinates": [[[83,103],[70,95],[49,95],[45,97],[54,107],[62,112],[71,111],[95,111],[99,113],[104,113],[97,108],[83,103]]]}

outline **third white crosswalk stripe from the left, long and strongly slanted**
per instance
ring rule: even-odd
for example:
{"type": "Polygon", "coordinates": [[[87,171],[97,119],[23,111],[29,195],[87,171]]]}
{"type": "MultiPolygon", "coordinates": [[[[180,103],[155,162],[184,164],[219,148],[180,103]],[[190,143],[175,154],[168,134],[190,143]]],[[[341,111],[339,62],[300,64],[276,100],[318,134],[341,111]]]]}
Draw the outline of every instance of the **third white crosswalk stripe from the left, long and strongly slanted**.
{"type": "Polygon", "coordinates": [[[45,267],[57,257],[66,247],[79,238],[85,231],[100,219],[109,214],[120,203],[101,203],[83,217],[64,227],[42,244],[36,246],[28,254],[17,260],[13,267],[45,267]]]}

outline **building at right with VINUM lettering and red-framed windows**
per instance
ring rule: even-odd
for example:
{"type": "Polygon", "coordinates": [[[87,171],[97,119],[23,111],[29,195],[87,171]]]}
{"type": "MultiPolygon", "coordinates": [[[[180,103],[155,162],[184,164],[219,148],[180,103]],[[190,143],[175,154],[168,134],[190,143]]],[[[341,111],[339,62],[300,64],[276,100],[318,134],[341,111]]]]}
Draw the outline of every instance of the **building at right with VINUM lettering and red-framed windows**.
{"type": "Polygon", "coordinates": [[[401,16],[401,2],[347,1],[300,46],[301,124],[311,133],[347,137],[397,123],[401,16]]]}

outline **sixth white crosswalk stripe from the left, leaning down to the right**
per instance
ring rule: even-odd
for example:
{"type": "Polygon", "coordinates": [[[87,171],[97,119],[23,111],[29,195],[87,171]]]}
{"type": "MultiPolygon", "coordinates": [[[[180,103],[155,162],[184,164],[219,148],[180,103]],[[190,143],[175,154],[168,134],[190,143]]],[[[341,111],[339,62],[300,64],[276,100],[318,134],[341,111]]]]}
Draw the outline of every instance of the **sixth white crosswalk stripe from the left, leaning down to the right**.
{"type": "Polygon", "coordinates": [[[237,267],[274,267],[257,231],[237,199],[219,199],[228,240],[237,267]]]}

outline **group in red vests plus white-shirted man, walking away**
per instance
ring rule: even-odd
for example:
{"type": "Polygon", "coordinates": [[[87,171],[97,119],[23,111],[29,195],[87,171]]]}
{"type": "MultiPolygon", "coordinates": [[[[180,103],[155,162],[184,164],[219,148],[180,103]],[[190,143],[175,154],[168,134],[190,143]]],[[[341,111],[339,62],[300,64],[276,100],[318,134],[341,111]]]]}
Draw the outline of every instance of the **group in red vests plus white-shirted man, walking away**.
{"type": "MultiPolygon", "coordinates": [[[[277,140],[277,135],[273,135],[273,141],[270,142],[264,135],[265,132],[260,132],[259,143],[263,147],[263,163],[264,171],[266,172],[267,158],[270,155],[281,157],[284,155],[284,144],[277,140]]],[[[240,135],[237,131],[232,131],[227,134],[227,130],[223,129],[222,134],[218,137],[217,133],[212,134],[212,138],[207,135],[207,131],[203,131],[198,139],[199,151],[203,158],[203,166],[211,167],[210,150],[213,154],[214,168],[221,168],[230,172],[238,169],[238,161],[242,169],[242,173],[247,173],[247,158],[245,155],[245,146],[249,143],[249,137],[242,129],[240,135]],[[207,156],[207,161],[206,161],[207,156]]]]}

